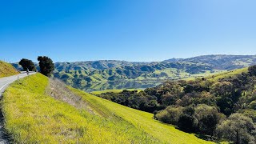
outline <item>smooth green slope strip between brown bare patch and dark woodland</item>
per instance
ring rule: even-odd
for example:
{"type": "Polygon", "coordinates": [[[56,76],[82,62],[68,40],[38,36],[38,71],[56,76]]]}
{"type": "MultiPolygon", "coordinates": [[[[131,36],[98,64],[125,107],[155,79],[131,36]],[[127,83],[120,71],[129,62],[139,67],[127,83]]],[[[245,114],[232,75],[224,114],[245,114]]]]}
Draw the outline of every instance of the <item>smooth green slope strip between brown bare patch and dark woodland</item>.
{"type": "Polygon", "coordinates": [[[95,97],[94,95],[86,94],[81,90],[72,90],[74,93],[82,95],[82,99],[90,103],[91,107],[95,107],[94,110],[98,111],[99,114],[102,114],[105,117],[110,114],[114,114],[117,117],[123,118],[125,121],[132,123],[138,129],[145,130],[146,133],[152,135],[154,138],[160,139],[162,143],[213,143],[203,141],[202,139],[195,137],[194,134],[187,134],[177,130],[174,126],[158,122],[153,119],[153,114],[122,106],[117,103],[95,97]]]}

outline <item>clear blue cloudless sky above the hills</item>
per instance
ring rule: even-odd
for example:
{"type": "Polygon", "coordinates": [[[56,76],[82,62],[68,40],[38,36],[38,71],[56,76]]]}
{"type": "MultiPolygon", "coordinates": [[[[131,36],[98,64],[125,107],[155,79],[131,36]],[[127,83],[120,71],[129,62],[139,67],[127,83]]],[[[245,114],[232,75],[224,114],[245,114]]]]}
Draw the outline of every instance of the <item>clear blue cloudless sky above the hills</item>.
{"type": "Polygon", "coordinates": [[[255,0],[8,0],[0,59],[162,61],[256,54],[255,0]]]}

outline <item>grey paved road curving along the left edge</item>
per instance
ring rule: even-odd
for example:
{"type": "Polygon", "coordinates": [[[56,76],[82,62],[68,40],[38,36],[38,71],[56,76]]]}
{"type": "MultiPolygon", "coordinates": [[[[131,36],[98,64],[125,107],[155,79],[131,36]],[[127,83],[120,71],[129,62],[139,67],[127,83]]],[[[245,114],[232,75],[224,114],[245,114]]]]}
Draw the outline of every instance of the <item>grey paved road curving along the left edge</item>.
{"type": "MultiPolygon", "coordinates": [[[[35,74],[34,72],[30,72],[31,74],[35,74]]],[[[18,80],[18,78],[25,78],[28,76],[26,72],[22,72],[22,74],[0,78],[0,98],[2,98],[2,93],[6,88],[10,85],[10,83],[18,80]]],[[[6,135],[4,130],[4,122],[3,122],[3,116],[2,116],[2,110],[0,110],[0,144],[10,143],[10,138],[8,135],[6,135]]]]}

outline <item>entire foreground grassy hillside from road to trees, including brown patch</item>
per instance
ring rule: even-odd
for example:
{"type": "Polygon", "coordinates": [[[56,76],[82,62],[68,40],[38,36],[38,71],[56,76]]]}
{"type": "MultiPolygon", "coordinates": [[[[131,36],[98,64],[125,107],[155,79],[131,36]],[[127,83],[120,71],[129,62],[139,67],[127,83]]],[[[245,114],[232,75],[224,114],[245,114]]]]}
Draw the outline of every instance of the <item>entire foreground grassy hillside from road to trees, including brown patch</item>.
{"type": "Polygon", "coordinates": [[[14,142],[208,143],[154,120],[153,114],[70,88],[73,94],[51,81],[35,74],[6,90],[2,110],[14,142]]]}

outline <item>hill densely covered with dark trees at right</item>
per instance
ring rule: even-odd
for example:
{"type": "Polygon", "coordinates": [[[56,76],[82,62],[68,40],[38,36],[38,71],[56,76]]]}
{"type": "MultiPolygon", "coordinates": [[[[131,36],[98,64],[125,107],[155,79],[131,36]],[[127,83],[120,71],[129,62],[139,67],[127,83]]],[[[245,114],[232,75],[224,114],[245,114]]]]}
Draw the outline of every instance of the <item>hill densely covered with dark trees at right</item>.
{"type": "Polygon", "coordinates": [[[140,92],[98,96],[154,113],[154,118],[202,138],[255,143],[255,85],[256,66],[250,66],[193,81],[168,81],[140,92]]]}

